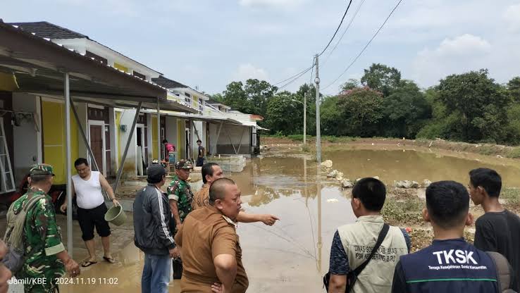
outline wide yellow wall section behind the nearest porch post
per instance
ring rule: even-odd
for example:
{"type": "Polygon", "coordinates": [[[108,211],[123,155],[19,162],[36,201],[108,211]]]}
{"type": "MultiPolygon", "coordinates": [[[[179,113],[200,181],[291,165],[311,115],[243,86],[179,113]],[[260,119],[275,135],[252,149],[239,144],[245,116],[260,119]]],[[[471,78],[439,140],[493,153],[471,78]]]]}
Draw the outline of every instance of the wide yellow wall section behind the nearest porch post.
{"type": "MultiPolygon", "coordinates": [[[[54,101],[42,100],[42,125],[44,144],[44,163],[54,166],[54,184],[66,183],[65,170],[65,105],[54,101]]],[[[70,111],[70,158],[71,163],[79,157],[78,124],[70,111]]],[[[74,166],[70,168],[75,173],[74,166]]]]}

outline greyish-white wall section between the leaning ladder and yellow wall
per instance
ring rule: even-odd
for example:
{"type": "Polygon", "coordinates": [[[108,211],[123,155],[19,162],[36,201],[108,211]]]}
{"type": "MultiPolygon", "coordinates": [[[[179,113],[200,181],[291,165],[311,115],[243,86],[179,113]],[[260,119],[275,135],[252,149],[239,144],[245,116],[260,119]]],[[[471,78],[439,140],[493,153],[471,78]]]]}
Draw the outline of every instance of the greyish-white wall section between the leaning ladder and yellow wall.
{"type": "Polygon", "coordinates": [[[32,164],[42,163],[42,113],[39,96],[13,92],[13,111],[36,113],[35,123],[23,121],[13,127],[13,173],[15,182],[23,179],[32,164]]]}

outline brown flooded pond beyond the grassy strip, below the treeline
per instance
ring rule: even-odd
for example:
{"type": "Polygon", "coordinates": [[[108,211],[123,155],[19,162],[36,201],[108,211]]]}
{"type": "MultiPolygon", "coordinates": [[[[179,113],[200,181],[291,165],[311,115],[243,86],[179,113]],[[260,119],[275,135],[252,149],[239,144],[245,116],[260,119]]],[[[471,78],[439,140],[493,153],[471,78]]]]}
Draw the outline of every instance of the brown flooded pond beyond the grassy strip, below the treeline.
{"type": "Polygon", "coordinates": [[[394,180],[422,182],[455,180],[466,185],[468,173],[473,168],[486,167],[497,170],[507,187],[520,187],[520,166],[517,160],[478,156],[476,154],[426,153],[421,151],[350,149],[327,151],[323,161],[333,161],[333,168],[344,177],[379,176],[386,184],[394,180]]]}

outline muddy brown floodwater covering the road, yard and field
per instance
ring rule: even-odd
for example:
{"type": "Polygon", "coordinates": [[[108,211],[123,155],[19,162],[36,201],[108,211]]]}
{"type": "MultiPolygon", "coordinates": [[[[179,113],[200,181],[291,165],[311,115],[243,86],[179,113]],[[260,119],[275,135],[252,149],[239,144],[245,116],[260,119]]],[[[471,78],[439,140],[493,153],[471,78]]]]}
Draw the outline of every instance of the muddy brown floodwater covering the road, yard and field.
{"type": "MultiPolygon", "coordinates": [[[[501,173],[505,185],[520,187],[518,166],[498,158],[483,163],[416,151],[354,149],[327,151],[323,159],[331,159],[333,168],[352,180],[378,175],[387,184],[426,178],[465,184],[471,168],[485,166],[501,173]]],[[[323,292],[321,280],[328,271],[333,234],[338,226],[355,220],[347,192],[338,182],[327,180],[325,172],[318,174],[316,163],[304,158],[254,158],[242,173],[226,175],[239,185],[247,213],[280,217],[272,227],[262,223],[238,227],[248,292],[323,292]]],[[[61,292],[140,292],[143,254],[129,239],[114,255],[118,263],[101,262],[83,270],[83,285],[62,286],[61,292]]],[[[170,292],[180,292],[178,280],[172,280],[170,292]]]]}

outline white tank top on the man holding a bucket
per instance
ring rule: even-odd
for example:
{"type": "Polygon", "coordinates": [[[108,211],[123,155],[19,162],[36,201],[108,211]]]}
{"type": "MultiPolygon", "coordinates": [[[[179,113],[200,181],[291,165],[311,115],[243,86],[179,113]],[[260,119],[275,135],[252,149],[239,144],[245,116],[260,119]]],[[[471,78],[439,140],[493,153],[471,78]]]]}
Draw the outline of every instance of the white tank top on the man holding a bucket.
{"type": "Polygon", "coordinates": [[[97,208],[104,203],[105,199],[101,193],[98,171],[90,171],[89,180],[83,180],[80,175],[74,175],[73,183],[76,200],[80,208],[97,208]]]}

